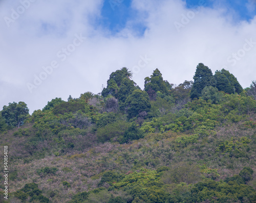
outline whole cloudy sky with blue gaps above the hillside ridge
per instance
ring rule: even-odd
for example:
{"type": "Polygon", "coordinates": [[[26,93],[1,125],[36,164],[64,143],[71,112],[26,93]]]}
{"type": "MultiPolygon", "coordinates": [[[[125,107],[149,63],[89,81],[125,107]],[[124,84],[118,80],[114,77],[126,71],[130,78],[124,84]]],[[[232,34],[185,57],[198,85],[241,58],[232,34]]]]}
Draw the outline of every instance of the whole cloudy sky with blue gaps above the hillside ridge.
{"type": "Polygon", "coordinates": [[[193,80],[204,63],[243,88],[256,80],[256,0],[1,0],[0,110],[98,94],[127,67],[143,89],[193,80]]]}

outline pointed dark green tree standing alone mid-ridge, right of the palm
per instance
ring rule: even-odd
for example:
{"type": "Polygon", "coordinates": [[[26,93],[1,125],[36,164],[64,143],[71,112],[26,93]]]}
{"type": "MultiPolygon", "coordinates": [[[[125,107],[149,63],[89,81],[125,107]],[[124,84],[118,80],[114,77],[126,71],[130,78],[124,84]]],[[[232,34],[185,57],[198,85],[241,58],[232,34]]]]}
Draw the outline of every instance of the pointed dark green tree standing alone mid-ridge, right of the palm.
{"type": "Polygon", "coordinates": [[[163,80],[161,72],[156,69],[150,77],[146,77],[144,82],[144,91],[151,92],[160,91],[162,94],[168,94],[168,89],[172,88],[172,85],[163,80]]]}

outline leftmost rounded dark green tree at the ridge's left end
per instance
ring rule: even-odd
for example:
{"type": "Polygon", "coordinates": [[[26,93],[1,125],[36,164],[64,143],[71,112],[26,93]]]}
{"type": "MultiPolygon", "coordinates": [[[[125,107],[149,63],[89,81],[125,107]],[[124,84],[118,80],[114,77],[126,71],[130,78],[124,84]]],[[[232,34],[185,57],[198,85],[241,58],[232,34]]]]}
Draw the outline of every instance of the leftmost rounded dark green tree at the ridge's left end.
{"type": "Polygon", "coordinates": [[[6,123],[13,127],[22,126],[28,115],[29,109],[25,102],[9,103],[9,106],[4,106],[2,110],[6,123]]]}

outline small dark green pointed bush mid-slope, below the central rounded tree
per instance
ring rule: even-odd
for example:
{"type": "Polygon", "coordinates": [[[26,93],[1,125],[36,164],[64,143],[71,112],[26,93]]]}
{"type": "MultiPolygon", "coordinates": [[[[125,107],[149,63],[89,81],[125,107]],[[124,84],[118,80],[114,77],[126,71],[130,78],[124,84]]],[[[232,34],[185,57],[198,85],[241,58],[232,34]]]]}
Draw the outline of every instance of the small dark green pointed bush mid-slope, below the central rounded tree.
{"type": "Polygon", "coordinates": [[[123,134],[123,143],[127,143],[132,140],[139,140],[144,137],[144,133],[141,129],[138,128],[135,122],[132,122],[128,129],[125,130],[123,134]]]}

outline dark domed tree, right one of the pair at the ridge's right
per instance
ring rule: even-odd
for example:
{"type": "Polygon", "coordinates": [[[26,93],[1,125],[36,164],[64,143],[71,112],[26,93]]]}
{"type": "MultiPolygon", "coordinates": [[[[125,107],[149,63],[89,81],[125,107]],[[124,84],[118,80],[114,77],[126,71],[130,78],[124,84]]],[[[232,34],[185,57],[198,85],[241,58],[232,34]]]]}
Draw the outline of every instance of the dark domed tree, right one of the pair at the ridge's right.
{"type": "Polygon", "coordinates": [[[243,87],[239,84],[236,77],[230,74],[229,71],[222,69],[221,71],[216,71],[214,75],[216,79],[216,87],[219,91],[223,91],[228,94],[240,94],[243,92],[243,87]]]}

